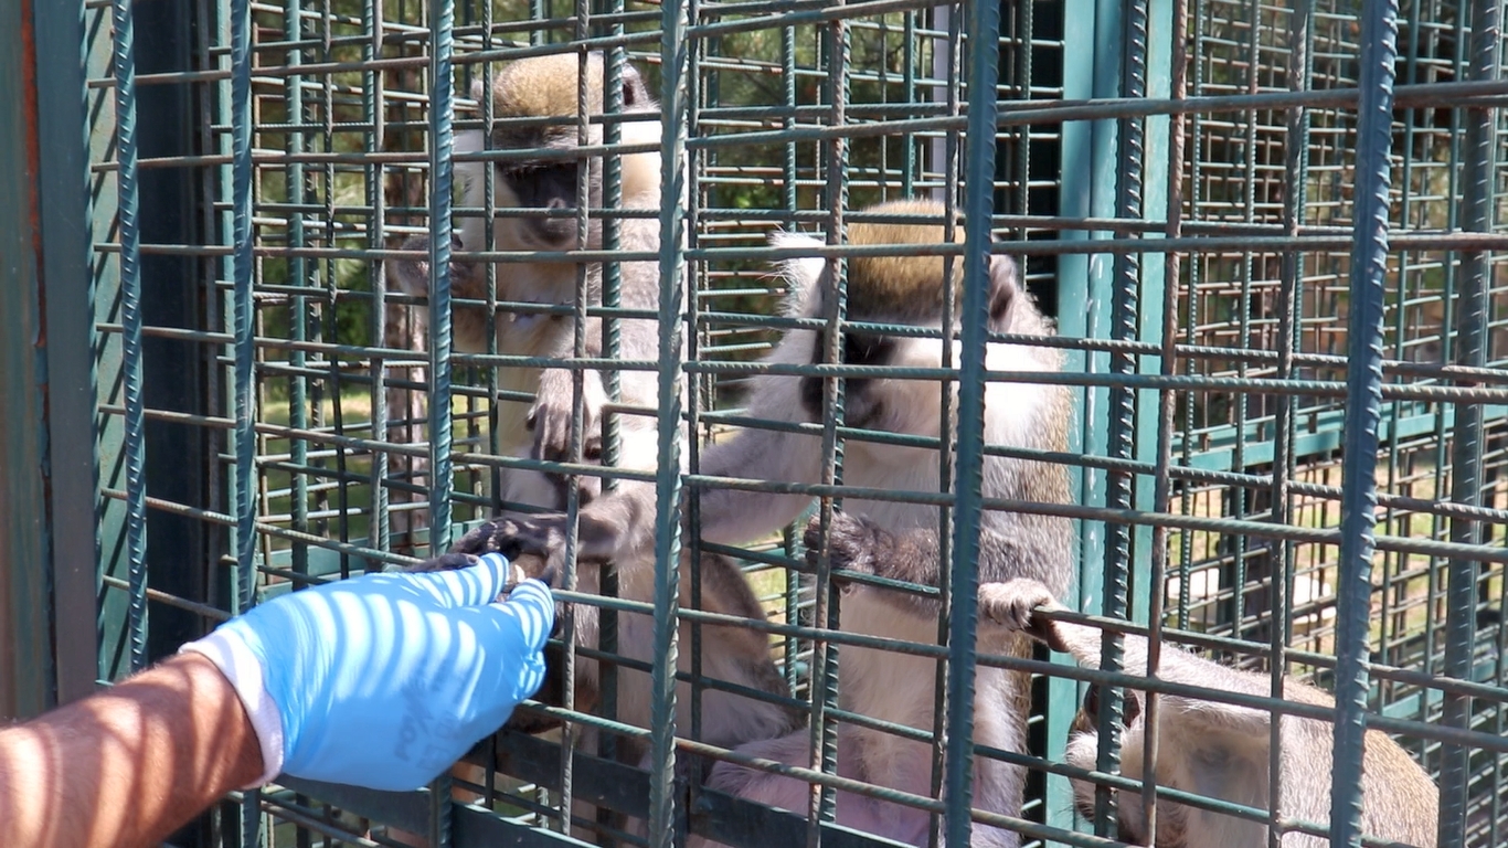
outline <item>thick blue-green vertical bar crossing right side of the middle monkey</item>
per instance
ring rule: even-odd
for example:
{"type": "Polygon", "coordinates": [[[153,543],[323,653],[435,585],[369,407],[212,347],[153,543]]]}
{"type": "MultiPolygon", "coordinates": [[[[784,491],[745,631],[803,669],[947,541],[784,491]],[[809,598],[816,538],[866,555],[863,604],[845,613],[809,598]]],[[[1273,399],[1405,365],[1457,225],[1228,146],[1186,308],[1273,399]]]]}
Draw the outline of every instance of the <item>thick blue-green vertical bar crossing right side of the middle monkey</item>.
{"type": "MultiPolygon", "coordinates": [[[[1000,80],[1000,3],[968,9],[968,149],[964,193],[964,303],[959,352],[958,478],[953,564],[979,560],[985,487],[985,344],[991,216],[995,211],[995,86],[1000,80]]],[[[979,573],[958,567],[949,582],[947,843],[968,845],[974,783],[974,632],[979,573]]]]}

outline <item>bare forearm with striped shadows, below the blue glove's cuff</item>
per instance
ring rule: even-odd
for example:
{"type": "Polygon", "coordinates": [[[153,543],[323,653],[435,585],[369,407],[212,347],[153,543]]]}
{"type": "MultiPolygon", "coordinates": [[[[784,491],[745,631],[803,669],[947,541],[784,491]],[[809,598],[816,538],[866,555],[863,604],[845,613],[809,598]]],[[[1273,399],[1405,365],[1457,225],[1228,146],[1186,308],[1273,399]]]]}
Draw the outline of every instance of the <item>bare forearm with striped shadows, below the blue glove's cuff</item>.
{"type": "Polygon", "coordinates": [[[229,681],[182,653],[0,730],[0,845],[149,845],[261,774],[229,681]]]}

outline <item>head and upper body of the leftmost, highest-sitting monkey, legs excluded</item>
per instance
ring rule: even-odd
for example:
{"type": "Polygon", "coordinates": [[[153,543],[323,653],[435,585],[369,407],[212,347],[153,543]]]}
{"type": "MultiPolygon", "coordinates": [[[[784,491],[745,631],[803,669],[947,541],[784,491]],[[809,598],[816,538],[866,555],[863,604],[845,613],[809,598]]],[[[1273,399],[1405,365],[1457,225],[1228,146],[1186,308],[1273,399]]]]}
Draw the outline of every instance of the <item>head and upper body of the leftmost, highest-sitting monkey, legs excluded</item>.
{"type": "MultiPolygon", "coordinates": [[[[587,107],[591,116],[603,113],[603,56],[588,54],[588,74],[594,83],[588,86],[587,107]]],[[[540,151],[537,158],[510,157],[489,161],[457,161],[455,181],[461,186],[461,207],[484,208],[487,201],[486,169],[493,167],[493,207],[498,210],[531,210],[535,214],[495,217],[490,222],[495,250],[570,250],[578,249],[576,192],[581,167],[590,169],[588,205],[602,208],[602,157],[572,158],[578,146],[578,127],[566,116],[576,115],[579,57],[573,53],[538,56],[513,62],[492,80],[492,106],[498,125],[492,137],[484,139],[483,130],[467,130],[455,134],[458,154],[477,152],[484,146],[495,151],[540,151]],[[559,118],[561,124],[540,125],[541,119],[559,118]],[[513,119],[513,121],[510,121],[513,119]],[[523,125],[517,119],[526,121],[523,125]]],[[[487,86],[477,80],[472,97],[478,101],[489,97],[487,86]]],[[[621,74],[624,116],[659,115],[659,106],[650,97],[642,77],[626,65],[621,74]]],[[[602,143],[602,124],[588,127],[587,143],[602,143]]],[[[657,143],[657,121],[624,121],[621,143],[657,143]]],[[[657,210],[661,205],[661,157],[657,152],[635,152],[618,157],[621,163],[623,210],[657,210]]],[[[452,246],[464,250],[487,247],[483,217],[464,217],[457,226],[452,246]]],[[[659,249],[659,222],[651,217],[620,219],[618,246],[623,250],[659,249]]],[[[585,241],[581,249],[602,247],[603,222],[588,219],[585,241]]],[[[427,235],[415,235],[404,250],[427,252],[427,235]]],[[[541,306],[569,306],[576,300],[576,276],[579,263],[499,263],[496,273],[496,297],[504,302],[540,303],[541,306]]],[[[656,263],[621,263],[621,297],[624,309],[653,311],[659,305],[659,267],[656,263]]],[[[401,291],[415,296],[428,293],[430,269],[424,260],[391,263],[389,279],[401,291]]],[[[587,264],[588,306],[602,305],[602,266],[587,264]]],[[[455,261],[451,266],[451,288],[466,300],[487,299],[486,267],[475,261],[455,261]]],[[[547,312],[511,312],[493,318],[486,308],[457,308],[452,315],[455,350],[461,353],[484,353],[487,350],[487,327],[496,333],[496,350],[501,355],[570,359],[575,356],[575,320],[570,315],[547,312]]],[[[623,359],[653,359],[657,350],[657,329],[650,320],[621,318],[618,321],[620,356],[623,359]]],[[[587,318],[587,355],[602,355],[602,320],[587,318]]],[[[499,370],[502,392],[535,395],[534,404],[525,412],[520,404],[502,403],[498,407],[499,450],[511,456],[564,460],[569,454],[573,406],[572,374],[566,368],[499,370]]],[[[653,371],[624,370],[620,373],[623,404],[656,404],[657,382],[653,371]]],[[[599,463],[602,454],[602,416],[608,394],[602,374],[594,370],[582,373],[582,456],[588,463],[599,463]]],[[[654,450],[654,429],[645,416],[626,415],[623,421],[623,454],[638,456],[654,450]]],[[[579,478],[581,496],[590,499],[600,490],[597,477],[579,478]]],[[[511,468],[504,472],[502,499],[546,508],[566,508],[566,492],[559,475],[546,475],[534,469],[511,468]]]]}

